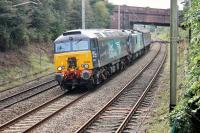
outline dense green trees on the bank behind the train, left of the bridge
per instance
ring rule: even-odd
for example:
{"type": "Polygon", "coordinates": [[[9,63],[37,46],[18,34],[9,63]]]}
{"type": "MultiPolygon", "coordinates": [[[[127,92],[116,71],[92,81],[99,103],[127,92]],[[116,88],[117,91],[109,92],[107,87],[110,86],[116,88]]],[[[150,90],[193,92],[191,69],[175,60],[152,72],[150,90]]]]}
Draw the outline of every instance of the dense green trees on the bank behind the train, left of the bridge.
{"type": "MultiPolygon", "coordinates": [[[[66,30],[81,28],[81,0],[0,1],[0,51],[30,42],[49,42],[66,30]],[[36,1],[38,2],[38,1],[36,1]]],[[[109,28],[113,6],[103,0],[86,0],[86,28],[109,28]]]]}

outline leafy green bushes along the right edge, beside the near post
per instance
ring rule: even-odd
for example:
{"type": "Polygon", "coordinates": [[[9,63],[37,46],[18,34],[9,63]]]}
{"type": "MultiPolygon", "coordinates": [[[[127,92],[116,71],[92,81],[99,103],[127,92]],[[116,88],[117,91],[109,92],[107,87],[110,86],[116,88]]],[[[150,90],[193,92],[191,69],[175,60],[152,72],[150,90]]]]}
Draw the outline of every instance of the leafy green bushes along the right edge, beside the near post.
{"type": "Polygon", "coordinates": [[[189,78],[187,89],[181,103],[171,113],[171,123],[175,132],[194,132],[200,130],[200,14],[199,0],[192,1],[190,9],[185,8],[184,25],[192,29],[192,40],[189,44],[189,78]]]}

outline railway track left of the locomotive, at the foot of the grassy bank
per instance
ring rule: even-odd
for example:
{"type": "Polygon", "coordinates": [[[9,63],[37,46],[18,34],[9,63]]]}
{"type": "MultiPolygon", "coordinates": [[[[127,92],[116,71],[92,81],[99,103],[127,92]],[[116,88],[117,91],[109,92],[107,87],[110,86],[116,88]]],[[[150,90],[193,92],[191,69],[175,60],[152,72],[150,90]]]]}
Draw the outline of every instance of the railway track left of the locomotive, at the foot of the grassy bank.
{"type": "Polygon", "coordinates": [[[8,97],[0,99],[0,111],[3,109],[6,109],[16,103],[19,103],[23,100],[26,100],[35,95],[38,95],[44,91],[52,89],[56,86],[58,86],[58,83],[54,79],[52,79],[50,81],[46,81],[44,83],[38,84],[38,85],[28,88],[26,90],[17,92],[8,97]]]}

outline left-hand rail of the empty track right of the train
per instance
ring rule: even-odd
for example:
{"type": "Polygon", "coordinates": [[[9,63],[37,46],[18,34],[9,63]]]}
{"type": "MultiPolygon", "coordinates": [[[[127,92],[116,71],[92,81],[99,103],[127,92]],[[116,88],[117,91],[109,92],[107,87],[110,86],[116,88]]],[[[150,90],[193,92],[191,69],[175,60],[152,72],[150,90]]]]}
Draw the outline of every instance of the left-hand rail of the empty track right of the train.
{"type": "Polygon", "coordinates": [[[100,114],[102,114],[105,109],[107,107],[109,107],[118,97],[121,96],[122,92],[124,92],[126,90],[126,88],[132,83],[134,82],[141,74],[142,72],[144,72],[148,66],[154,61],[154,59],[157,57],[158,53],[160,52],[160,49],[161,49],[161,46],[158,50],[158,52],[156,53],[156,55],[152,58],[152,60],[147,64],[145,65],[135,76],[132,80],[130,80],[124,87],[123,89],[117,93],[101,110],[99,110],[92,118],[90,118],[82,127],[80,127],[76,133],[83,133],[85,131],[86,128],[88,128],[97,118],[100,114]]]}

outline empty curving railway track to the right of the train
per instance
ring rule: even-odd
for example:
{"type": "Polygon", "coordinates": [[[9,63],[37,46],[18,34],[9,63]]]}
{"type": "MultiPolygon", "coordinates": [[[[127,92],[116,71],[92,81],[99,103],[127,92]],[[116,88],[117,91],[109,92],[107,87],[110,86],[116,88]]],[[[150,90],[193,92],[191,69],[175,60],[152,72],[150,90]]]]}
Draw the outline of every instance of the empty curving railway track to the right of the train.
{"type": "Polygon", "coordinates": [[[165,49],[165,46],[162,46],[159,54],[149,66],[144,68],[99,112],[80,127],[77,133],[123,132],[159,73],[166,58],[165,49]],[[165,54],[162,55],[163,50],[165,54]]]}

